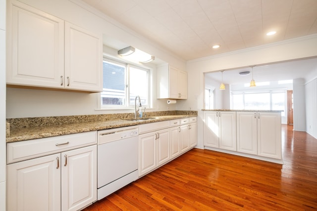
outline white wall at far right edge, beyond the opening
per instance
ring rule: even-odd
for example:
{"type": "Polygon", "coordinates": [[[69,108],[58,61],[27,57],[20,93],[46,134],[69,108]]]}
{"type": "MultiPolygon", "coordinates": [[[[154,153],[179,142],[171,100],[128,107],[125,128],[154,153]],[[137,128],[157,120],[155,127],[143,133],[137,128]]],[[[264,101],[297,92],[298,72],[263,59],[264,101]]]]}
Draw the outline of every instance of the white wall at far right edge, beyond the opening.
{"type": "Polygon", "coordinates": [[[305,96],[306,131],[317,138],[317,78],[305,85],[305,96]]]}

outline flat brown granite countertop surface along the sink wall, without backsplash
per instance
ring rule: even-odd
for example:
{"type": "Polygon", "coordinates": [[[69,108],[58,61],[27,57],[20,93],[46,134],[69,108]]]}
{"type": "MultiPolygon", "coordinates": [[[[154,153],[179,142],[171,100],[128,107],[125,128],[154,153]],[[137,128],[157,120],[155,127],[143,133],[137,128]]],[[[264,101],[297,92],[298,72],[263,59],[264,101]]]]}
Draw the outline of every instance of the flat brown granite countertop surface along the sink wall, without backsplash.
{"type": "MultiPolygon", "coordinates": [[[[53,125],[39,125],[34,127],[10,127],[9,136],[6,137],[6,142],[24,141],[36,138],[44,138],[65,134],[72,134],[78,132],[87,132],[94,130],[111,129],[117,127],[135,126],[147,123],[155,123],[166,120],[174,120],[180,118],[194,117],[196,114],[181,114],[181,115],[163,115],[163,116],[151,116],[153,119],[144,121],[130,121],[124,119],[104,120],[95,122],[74,122],[64,124],[53,125]]],[[[147,118],[150,118],[147,117],[147,118]]]]}

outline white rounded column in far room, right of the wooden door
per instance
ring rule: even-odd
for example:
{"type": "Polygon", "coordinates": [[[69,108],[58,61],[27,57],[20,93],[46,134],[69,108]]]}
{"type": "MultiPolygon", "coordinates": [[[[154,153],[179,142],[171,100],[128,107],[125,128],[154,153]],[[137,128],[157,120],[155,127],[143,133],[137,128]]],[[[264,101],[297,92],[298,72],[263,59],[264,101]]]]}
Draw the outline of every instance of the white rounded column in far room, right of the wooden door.
{"type": "Polygon", "coordinates": [[[293,129],[306,131],[305,80],[293,80],[293,129]]]}

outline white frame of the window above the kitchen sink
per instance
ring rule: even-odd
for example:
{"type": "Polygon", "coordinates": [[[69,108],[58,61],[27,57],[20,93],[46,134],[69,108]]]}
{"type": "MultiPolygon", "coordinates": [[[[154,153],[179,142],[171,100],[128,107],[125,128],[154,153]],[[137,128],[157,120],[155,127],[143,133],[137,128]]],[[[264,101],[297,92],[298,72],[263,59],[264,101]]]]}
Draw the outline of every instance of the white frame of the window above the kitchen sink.
{"type": "MultiPolygon", "coordinates": [[[[110,62],[110,63],[114,63],[117,65],[122,65],[125,66],[125,93],[124,93],[124,97],[125,97],[125,103],[123,105],[102,105],[102,93],[103,92],[99,92],[97,94],[97,109],[96,110],[130,110],[130,109],[134,109],[134,103],[130,104],[130,67],[136,68],[136,69],[140,69],[140,70],[144,70],[147,71],[148,75],[148,104],[144,105],[142,104],[142,107],[146,107],[146,108],[152,108],[153,105],[153,82],[152,82],[152,74],[153,74],[153,70],[152,68],[149,67],[141,67],[139,65],[133,64],[133,63],[129,63],[127,61],[120,61],[120,60],[116,60],[116,59],[111,59],[108,57],[103,57],[103,62],[110,62]]],[[[103,76],[104,77],[104,76],[103,76]]],[[[104,78],[103,78],[104,80],[104,78]]]]}

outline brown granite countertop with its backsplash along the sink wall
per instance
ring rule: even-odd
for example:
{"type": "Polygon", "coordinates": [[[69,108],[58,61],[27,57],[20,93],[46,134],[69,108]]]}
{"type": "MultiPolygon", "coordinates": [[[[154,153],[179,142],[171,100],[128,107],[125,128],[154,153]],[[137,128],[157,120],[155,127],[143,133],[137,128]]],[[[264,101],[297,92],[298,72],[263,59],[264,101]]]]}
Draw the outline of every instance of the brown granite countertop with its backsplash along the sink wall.
{"type": "Polygon", "coordinates": [[[133,113],[124,113],[7,119],[6,121],[10,124],[10,130],[9,136],[6,137],[6,142],[173,120],[197,116],[197,111],[147,112],[147,117],[156,117],[156,119],[142,122],[124,120],[133,118],[133,115],[133,113]]]}

